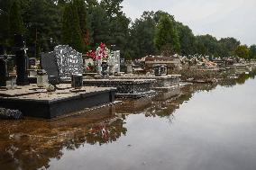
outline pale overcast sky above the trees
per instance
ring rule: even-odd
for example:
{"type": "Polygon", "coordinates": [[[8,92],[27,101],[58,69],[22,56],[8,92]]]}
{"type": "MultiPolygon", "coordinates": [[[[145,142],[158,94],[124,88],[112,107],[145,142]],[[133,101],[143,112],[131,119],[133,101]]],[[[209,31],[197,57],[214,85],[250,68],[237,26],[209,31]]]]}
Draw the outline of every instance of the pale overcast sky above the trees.
{"type": "Polygon", "coordinates": [[[242,44],[256,44],[256,0],[123,0],[128,17],[143,11],[162,10],[175,16],[198,34],[217,39],[234,37],[242,44]]]}

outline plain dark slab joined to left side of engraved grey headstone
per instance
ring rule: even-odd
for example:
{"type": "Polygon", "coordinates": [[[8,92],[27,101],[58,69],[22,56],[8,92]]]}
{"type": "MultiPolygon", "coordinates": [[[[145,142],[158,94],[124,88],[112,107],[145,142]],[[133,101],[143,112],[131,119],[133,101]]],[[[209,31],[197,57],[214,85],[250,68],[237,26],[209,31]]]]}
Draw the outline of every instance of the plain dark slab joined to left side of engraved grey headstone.
{"type": "Polygon", "coordinates": [[[55,76],[59,82],[59,68],[54,52],[41,53],[41,67],[47,72],[48,76],[55,76]]]}

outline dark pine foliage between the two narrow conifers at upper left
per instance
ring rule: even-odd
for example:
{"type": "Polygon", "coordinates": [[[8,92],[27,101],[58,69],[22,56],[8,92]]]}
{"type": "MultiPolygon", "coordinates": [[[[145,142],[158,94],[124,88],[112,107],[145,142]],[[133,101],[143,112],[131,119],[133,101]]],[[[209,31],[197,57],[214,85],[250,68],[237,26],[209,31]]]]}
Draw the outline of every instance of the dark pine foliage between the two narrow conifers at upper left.
{"type": "Polygon", "coordinates": [[[27,45],[40,51],[50,51],[60,43],[61,6],[53,0],[23,0],[23,22],[27,45]]]}

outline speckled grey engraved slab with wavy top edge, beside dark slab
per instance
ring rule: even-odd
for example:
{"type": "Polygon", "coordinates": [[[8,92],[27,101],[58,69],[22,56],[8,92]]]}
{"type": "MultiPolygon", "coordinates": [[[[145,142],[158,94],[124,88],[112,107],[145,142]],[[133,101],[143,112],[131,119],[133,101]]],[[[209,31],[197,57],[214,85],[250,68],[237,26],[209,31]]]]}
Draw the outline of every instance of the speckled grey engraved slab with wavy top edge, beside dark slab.
{"type": "Polygon", "coordinates": [[[82,54],[68,45],[59,45],[54,49],[60,80],[70,79],[73,74],[83,74],[82,54]]]}

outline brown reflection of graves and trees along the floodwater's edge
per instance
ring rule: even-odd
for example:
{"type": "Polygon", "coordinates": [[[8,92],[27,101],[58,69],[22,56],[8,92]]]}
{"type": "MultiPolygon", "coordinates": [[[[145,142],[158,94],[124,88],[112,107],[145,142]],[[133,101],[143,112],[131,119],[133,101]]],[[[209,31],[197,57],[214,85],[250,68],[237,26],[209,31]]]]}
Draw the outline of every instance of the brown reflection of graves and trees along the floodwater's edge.
{"type": "MultiPolygon", "coordinates": [[[[255,75],[256,72],[244,74],[220,85],[241,85],[247,79],[254,79],[255,75]]],[[[115,106],[59,121],[0,121],[0,169],[48,168],[53,158],[59,160],[67,151],[88,146],[115,145],[127,136],[129,130],[133,131],[126,125],[131,115],[140,115],[140,120],[142,115],[143,121],[160,119],[172,124],[176,121],[174,113],[194,94],[210,92],[215,88],[217,85],[189,85],[178,91],[175,97],[168,98],[173,94],[164,93],[151,98],[123,101],[115,106]]],[[[137,130],[136,135],[140,136],[141,133],[141,130],[137,130]]]]}

